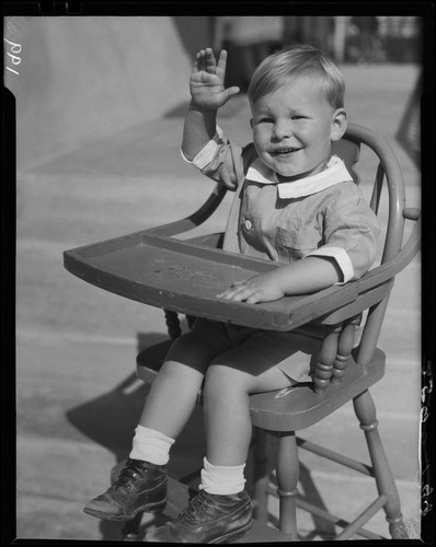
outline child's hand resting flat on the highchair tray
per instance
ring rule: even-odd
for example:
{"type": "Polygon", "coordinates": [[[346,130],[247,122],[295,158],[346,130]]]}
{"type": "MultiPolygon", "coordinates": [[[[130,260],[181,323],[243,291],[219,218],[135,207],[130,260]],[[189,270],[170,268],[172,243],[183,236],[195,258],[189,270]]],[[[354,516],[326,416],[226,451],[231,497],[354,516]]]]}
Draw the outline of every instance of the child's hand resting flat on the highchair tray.
{"type": "Polygon", "coordinates": [[[260,274],[243,281],[234,281],[231,289],[217,294],[217,298],[238,302],[245,301],[248,304],[278,300],[285,295],[285,292],[272,274],[260,274]]]}

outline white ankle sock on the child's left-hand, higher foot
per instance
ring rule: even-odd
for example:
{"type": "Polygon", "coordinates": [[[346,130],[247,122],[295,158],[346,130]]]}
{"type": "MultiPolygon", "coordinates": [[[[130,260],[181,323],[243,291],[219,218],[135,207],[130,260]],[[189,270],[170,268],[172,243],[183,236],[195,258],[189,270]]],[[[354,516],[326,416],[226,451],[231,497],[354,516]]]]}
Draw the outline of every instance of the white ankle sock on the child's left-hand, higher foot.
{"type": "Polygon", "coordinates": [[[138,426],[135,429],[129,457],[145,459],[150,464],[165,465],[170,459],[170,449],[173,444],[174,439],[170,439],[160,431],[138,426]]]}

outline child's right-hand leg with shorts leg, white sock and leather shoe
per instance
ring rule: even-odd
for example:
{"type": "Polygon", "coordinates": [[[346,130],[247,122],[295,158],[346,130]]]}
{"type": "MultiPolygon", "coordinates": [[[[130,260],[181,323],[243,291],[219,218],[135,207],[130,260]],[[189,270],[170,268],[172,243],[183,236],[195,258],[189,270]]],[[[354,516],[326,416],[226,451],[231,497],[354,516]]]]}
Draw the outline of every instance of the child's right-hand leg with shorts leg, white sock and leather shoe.
{"type": "Polygon", "coordinates": [[[207,455],[199,492],[174,522],[149,533],[147,542],[230,542],[250,528],[251,501],[244,489],[252,431],[249,396],[292,385],[274,364],[299,349],[288,339],[282,345],[277,341],[282,340],[253,336],[208,366],[204,387],[207,455]]]}

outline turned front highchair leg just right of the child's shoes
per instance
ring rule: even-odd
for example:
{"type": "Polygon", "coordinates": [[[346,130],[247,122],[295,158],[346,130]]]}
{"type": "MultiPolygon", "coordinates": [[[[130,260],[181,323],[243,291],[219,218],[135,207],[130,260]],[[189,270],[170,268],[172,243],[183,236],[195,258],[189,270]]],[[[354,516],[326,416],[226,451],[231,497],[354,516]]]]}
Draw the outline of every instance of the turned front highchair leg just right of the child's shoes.
{"type": "Polygon", "coordinates": [[[289,540],[296,542],[299,462],[294,431],[279,433],[276,473],[280,532],[289,535],[289,540]]]}

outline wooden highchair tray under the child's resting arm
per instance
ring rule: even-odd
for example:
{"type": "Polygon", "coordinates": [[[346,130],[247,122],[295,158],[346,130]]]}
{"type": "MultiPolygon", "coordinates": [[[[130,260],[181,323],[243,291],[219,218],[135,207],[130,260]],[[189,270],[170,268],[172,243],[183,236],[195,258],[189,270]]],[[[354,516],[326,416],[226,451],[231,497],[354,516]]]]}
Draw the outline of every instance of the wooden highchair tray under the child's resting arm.
{"type": "Polygon", "coordinates": [[[66,251],[64,264],[84,281],[137,302],[263,329],[291,330],[358,296],[352,282],[259,304],[218,299],[232,281],[279,265],[151,231],[66,251]]]}

